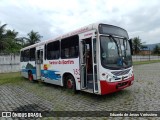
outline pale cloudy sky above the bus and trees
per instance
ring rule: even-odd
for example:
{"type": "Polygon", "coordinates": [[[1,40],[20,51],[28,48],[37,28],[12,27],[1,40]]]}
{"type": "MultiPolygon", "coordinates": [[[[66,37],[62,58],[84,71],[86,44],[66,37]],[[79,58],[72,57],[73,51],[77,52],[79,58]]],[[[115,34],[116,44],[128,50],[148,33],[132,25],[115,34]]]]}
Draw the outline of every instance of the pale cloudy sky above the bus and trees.
{"type": "Polygon", "coordinates": [[[34,30],[49,40],[96,22],[160,43],[160,0],[0,0],[0,25],[20,37],[34,30]]]}

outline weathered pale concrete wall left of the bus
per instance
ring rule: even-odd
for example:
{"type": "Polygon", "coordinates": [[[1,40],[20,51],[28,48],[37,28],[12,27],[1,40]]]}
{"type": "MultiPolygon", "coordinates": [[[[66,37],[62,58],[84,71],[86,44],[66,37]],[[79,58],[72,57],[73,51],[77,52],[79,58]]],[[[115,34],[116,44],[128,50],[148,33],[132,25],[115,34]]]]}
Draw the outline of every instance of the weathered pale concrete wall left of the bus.
{"type": "Polygon", "coordinates": [[[0,73],[20,71],[19,55],[0,55],[0,73]]]}

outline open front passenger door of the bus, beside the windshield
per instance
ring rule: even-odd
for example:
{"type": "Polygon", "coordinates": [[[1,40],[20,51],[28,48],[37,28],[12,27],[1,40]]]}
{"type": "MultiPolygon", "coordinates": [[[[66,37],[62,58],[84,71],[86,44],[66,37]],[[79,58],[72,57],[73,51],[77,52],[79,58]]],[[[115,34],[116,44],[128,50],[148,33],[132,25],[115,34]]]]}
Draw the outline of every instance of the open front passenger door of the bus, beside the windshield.
{"type": "Polygon", "coordinates": [[[81,89],[91,93],[98,92],[97,56],[95,31],[79,35],[80,38],[80,78],[81,89]]]}

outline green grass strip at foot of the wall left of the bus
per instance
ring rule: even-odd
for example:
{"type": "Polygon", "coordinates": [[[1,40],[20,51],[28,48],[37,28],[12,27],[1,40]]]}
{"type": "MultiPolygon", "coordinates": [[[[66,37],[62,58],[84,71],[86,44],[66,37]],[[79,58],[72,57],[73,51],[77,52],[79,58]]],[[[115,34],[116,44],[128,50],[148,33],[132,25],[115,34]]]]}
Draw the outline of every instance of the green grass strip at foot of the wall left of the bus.
{"type": "Polygon", "coordinates": [[[0,74],[0,85],[7,83],[20,83],[22,77],[19,72],[16,73],[1,73],[0,74]]]}

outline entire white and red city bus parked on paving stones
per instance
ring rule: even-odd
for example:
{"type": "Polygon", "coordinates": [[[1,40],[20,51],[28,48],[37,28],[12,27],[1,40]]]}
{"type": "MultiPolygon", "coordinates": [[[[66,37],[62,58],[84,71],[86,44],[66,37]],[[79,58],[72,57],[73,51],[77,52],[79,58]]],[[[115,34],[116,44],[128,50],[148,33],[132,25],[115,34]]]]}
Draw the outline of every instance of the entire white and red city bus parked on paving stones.
{"type": "Polygon", "coordinates": [[[126,30],[96,23],[21,49],[20,68],[31,81],[104,95],[133,84],[131,53],[126,30]]]}

